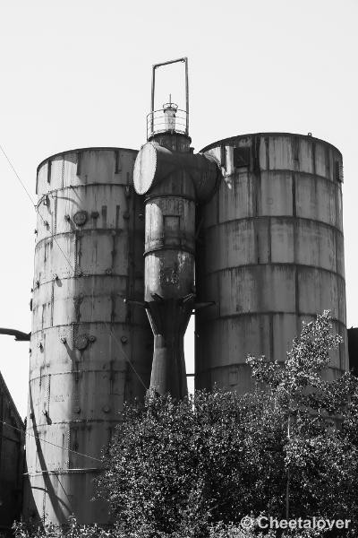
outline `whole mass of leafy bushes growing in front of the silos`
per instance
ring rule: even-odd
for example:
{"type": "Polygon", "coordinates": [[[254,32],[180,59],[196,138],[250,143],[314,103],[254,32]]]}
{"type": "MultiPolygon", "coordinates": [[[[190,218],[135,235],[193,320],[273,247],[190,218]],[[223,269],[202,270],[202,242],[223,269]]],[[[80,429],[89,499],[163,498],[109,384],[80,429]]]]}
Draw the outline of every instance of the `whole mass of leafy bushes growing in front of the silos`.
{"type": "MultiPolygon", "coordinates": [[[[180,402],[150,395],[144,406],[126,405],[97,481],[115,528],[106,534],[72,520],[64,536],[322,535],[241,528],[249,514],[286,519],[287,500],[289,518],[351,519],[350,531],[335,536],[356,536],[357,382],[349,374],[330,383],[322,378],[340,341],[324,312],[303,325],[286,362],[248,357],[257,382],[251,395],[197,391],[180,402]]],[[[46,532],[33,536],[53,535],[46,532]]],[[[16,538],[30,534],[18,531],[16,538]]]]}

